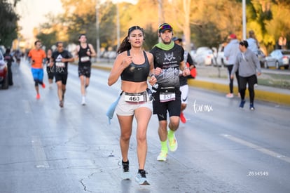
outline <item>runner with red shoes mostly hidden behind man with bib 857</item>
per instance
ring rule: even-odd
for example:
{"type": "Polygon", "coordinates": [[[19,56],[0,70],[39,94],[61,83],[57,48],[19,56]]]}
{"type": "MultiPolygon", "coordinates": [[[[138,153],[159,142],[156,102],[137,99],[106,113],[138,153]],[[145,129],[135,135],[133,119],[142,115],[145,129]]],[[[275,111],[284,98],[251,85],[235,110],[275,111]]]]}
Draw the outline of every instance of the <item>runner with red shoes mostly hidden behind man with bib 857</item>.
{"type": "MultiPolygon", "coordinates": [[[[182,46],[182,39],[178,37],[172,38],[175,44],[178,44],[179,46],[182,46]]],[[[187,63],[189,66],[189,70],[195,68],[195,65],[193,63],[193,59],[191,58],[191,55],[188,53],[188,51],[184,51],[184,62],[187,63]]],[[[182,74],[179,74],[179,84],[180,84],[180,91],[181,91],[181,112],[180,112],[180,120],[182,123],[186,123],[186,117],[184,117],[184,109],[186,109],[187,102],[188,102],[188,83],[187,83],[188,76],[183,76],[182,74]]]]}

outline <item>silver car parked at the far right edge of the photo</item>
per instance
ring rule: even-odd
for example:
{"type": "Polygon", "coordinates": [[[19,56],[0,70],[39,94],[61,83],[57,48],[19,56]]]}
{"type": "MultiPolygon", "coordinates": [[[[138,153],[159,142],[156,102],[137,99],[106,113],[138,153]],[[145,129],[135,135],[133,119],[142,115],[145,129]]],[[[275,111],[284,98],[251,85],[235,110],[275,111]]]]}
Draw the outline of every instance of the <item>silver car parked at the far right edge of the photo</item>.
{"type": "Polygon", "coordinates": [[[289,68],[290,50],[275,50],[270,53],[268,57],[265,58],[265,68],[284,67],[284,69],[289,68]]]}

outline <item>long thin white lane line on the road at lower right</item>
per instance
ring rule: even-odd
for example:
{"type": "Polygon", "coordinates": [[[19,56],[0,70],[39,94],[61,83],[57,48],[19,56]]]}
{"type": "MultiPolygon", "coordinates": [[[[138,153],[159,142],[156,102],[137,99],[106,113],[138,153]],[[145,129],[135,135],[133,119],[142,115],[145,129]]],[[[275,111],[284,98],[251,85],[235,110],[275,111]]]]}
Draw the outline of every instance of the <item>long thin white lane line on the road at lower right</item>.
{"type": "Polygon", "coordinates": [[[240,144],[245,145],[247,147],[250,147],[252,149],[256,149],[259,152],[262,152],[264,154],[268,154],[271,157],[275,157],[277,159],[281,159],[283,161],[286,161],[286,162],[290,163],[290,158],[289,157],[286,157],[286,156],[284,156],[282,154],[279,154],[277,152],[273,152],[273,151],[271,151],[269,149],[265,149],[265,148],[263,148],[261,146],[255,145],[254,143],[247,142],[245,140],[241,140],[240,138],[235,138],[232,135],[222,134],[222,136],[225,137],[225,138],[228,138],[229,140],[232,140],[234,142],[237,142],[237,143],[240,143],[240,144]]]}

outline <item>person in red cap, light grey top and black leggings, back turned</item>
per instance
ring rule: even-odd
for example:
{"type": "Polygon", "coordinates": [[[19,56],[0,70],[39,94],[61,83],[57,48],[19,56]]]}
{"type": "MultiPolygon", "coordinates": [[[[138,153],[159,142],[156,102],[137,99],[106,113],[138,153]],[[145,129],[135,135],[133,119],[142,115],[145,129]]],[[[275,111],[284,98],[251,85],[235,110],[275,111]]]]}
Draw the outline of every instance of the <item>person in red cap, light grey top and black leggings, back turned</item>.
{"type": "MultiPolygon", "coordinates": [[[[230,39],[230,42],[226,45],[224,48],[224,56],[228,60],[228,79],[230,81],[229,88],[230,88],[230,93],[226,95],[227,98],[233,98],[233,77],[230,76],[230,72],[232,72],[233,65],[235,63],[235,60],[237,58],[237,54],[240,53],[239,49],[239,41],[237,41],[237,36],[235,34],[230,34],[228,36],[230,39]]],[[[237,79],[237,95],[240,96],[240,82],[239,82],[239,72],[238,70],[235,72],[235,77],[237,79]]]]}

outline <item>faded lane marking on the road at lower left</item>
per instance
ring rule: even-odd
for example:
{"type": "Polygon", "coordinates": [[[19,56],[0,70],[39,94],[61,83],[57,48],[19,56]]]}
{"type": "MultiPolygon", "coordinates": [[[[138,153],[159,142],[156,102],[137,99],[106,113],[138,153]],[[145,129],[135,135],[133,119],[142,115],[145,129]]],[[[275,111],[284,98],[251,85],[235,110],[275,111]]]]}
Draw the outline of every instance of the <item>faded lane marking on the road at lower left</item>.
{"type": "Polygon", "coordinates": [[[32,136],[32,151],[36,162],[36,168],[49,168],[46,153],[38,136],[32,136]]]}

